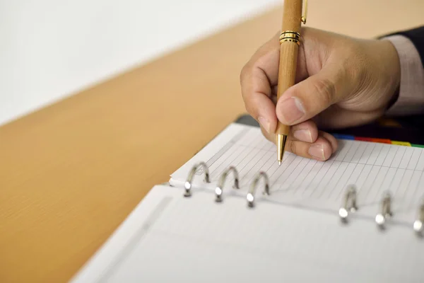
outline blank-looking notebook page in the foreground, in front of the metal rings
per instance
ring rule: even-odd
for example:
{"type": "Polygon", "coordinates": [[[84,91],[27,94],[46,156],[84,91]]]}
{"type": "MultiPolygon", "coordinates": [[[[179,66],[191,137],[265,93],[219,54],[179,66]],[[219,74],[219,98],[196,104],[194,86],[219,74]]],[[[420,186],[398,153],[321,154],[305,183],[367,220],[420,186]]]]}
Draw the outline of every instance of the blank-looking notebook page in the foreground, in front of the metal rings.
{"type": "Polygon", "coordinates": [[[73,282],[422,282],[423,245],[399,226],[157,186],[73,282]]]}

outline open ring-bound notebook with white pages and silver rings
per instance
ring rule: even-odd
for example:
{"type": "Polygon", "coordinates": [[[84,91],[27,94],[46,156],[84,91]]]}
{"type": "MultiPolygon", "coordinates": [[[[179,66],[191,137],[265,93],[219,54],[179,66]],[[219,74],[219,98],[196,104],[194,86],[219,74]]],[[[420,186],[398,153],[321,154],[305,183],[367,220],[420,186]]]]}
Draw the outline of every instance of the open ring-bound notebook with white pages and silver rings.
{"type": "Polygon", "coordinates": [[[424,282],[422,148],[319,162],[232,123],[157,185],[72,282],[424,282]]]}

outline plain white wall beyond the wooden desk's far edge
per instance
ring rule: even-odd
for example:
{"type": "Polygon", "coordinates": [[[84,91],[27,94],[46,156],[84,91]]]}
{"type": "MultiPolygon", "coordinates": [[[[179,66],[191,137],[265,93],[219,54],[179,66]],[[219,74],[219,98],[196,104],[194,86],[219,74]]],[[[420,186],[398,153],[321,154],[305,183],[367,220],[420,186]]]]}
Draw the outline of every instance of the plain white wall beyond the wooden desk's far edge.
{"type": "Polygon", "coordinates": [[[282,0],[0,0],[0,125],[282,0]]]}

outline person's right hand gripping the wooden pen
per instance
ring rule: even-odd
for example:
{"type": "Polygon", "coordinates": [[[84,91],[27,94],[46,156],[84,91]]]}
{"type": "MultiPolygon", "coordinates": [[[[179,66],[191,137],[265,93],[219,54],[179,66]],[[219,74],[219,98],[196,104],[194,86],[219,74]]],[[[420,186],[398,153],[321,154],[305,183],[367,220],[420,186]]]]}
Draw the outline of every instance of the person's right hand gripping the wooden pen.
{"type": "Polygon", "coordinates": [[[276,101],[279,33],[242,69],[245,107],[275,142],[277,119],[291,125],[285,149],[319,161],[337,149],[317,129],[363,125],[381,117],[399,88],[399,57],[388,40],[360,40],[302,28],[296,84],[276,101]]]}

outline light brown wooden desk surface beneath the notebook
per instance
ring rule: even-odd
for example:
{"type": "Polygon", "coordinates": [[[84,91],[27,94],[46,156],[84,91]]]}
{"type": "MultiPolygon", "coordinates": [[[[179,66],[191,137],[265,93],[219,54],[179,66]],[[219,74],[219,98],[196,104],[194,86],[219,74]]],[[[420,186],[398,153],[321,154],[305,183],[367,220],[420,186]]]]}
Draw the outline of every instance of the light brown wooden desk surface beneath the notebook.
{"type": "MultiPolygon", "coordinates": [[[[371,37],[424,1],[310,1],[307,25],[371,37]]],[[[244,112],[239,74],[281,9],[0,127],[0,282],[68,280],[155,184],[244,112]]]]}

